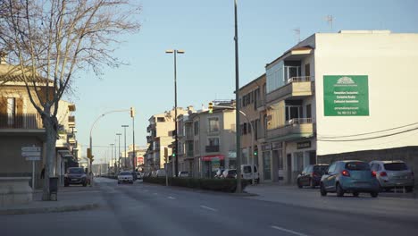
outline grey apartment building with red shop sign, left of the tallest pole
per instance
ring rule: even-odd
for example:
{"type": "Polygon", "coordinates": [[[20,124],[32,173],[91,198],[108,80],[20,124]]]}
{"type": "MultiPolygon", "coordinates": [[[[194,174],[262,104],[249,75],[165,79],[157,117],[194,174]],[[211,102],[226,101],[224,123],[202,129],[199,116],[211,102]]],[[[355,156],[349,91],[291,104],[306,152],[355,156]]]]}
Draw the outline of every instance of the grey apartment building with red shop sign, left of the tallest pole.
{"type": "MultiPolygon", "coordinates": [[[[217,103],[234,106],[234,101],[217,103]]],[[[235,109],[214,108],[213,113],[189,114],[193,121],[193,177],[210,178],[218,168],[237,168],[235,109]]]]}

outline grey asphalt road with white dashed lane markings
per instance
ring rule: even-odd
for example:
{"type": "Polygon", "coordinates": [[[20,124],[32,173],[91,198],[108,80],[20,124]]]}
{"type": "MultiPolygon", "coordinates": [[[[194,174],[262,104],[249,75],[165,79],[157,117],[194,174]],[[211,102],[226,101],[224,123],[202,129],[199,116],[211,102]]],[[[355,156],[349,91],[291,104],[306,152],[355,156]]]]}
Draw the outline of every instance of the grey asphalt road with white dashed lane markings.
{"type": "MultiPolygon", "coordinates": [[[[102,205],[98,209],[0,215],[1,235],[418,235],[416,217],[298,206],[140,182],[118,185],[97,178],[96,183],[99,191],[91,198],[102,205]]],[[[364,202],[334,199],[341,204],[346,199],[364,202]]]]}

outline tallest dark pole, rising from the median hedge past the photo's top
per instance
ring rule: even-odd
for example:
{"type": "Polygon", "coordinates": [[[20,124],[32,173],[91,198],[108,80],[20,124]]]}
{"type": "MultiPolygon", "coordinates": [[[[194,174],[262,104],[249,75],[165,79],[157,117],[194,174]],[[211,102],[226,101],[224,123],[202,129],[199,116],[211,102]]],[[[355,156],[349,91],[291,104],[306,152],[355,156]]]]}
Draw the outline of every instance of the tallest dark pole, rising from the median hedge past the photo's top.
{"type": "Polygon", "coordinates": [[[237,0],[234,0],[235,15],[235,103],[237,112],[235,114],[235,129],[237,130],[237,193],[241,193],[241,131],[239,129],[239,70],[238,70],[238,16],[237,0]]]}

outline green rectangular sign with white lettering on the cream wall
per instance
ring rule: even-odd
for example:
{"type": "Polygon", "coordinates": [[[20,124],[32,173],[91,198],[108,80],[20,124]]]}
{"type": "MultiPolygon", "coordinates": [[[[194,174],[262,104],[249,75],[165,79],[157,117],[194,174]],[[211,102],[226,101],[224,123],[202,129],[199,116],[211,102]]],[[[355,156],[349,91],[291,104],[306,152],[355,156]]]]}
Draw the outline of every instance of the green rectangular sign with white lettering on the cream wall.
{"type": "Polygon", "coordinates": [[[325,116],[369,115],[367,75],[324,75],[323,107],[325,116]]]}

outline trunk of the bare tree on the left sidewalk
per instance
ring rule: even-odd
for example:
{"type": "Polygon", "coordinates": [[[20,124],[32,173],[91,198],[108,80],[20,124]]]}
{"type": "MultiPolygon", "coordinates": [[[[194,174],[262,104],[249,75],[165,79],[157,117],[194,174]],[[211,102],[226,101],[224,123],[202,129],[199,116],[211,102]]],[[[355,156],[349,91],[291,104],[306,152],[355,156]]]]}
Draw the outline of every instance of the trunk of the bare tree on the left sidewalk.
{"type": "Polygon", "coordinates": [[[44,123],[46,130],[46,168],[42,200],[49,201],[51,200],[49,177],[54,177],[54,157],[58,121],[56,117],[51,117],[48,112],[45,112],[42,114],[42,122],[44,123]]]}

